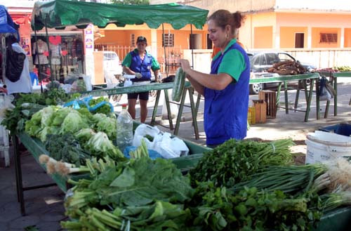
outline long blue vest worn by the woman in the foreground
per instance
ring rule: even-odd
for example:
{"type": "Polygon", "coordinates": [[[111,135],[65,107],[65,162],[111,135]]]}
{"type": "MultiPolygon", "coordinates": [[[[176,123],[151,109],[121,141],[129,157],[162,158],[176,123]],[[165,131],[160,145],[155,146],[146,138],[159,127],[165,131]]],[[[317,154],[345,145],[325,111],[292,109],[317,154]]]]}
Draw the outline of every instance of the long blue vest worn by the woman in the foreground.
{"type": "MultiPolygon", "coordinates": [[[[242,140],[246,137],[250,62],[244,49],[237,43],[230,46],[225,53],[233,49],[244,56],[246,68],[237,82],[232,81],[222,91],[205,87],[204,129],[207,145],[219,145],[230,138],[242,140]]],[[[218,74],[218,67],[225,53],[212,61],[211,74],[218,74]]]]}

